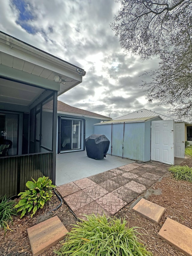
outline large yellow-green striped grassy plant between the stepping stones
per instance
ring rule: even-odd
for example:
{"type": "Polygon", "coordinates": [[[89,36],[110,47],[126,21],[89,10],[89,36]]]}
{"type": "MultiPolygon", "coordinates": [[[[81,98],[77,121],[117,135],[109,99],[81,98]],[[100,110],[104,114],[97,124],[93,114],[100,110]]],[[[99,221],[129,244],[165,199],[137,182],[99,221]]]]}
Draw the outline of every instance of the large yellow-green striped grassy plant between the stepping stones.
{"type": "Polygon", "coordinates": [[[88,220],[81,220],[73,225],[65,243],[55,251],[58,255],[71,256],[146,256],[152,255],[137,238],[137,227],[126,227],[121,218],[105,215],[85,215],[88,220]]]}

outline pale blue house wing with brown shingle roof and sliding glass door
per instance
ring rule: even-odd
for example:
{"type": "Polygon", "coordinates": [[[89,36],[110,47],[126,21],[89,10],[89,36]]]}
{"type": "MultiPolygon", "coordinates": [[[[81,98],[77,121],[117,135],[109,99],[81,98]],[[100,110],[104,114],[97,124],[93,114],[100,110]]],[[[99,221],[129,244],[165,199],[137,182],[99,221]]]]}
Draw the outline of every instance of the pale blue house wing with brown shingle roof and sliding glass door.
{"type": "Polygon", "coordinates": [[[57,115],[58,153],[85,150],[85,138],[94,134],[94,124],[112,120],[110,117],[72,107],[62,101],[57,103],[57,115]]]}

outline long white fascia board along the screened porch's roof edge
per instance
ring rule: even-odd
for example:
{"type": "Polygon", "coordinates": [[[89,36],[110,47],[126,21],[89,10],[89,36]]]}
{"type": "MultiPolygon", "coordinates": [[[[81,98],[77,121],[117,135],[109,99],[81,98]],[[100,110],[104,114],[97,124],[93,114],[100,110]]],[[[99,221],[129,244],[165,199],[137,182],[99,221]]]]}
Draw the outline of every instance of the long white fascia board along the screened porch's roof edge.
{"type": "Polygon", "coordinates": [[[76,68],[78,67],[70,65],[61,59],[51,56],[2,33],[0,33],[0,50],[11,56],[31,62],[35,65],[52,70],[55,73],[71,77],[82,82],[82,76],[76,71],[76,68]]]}

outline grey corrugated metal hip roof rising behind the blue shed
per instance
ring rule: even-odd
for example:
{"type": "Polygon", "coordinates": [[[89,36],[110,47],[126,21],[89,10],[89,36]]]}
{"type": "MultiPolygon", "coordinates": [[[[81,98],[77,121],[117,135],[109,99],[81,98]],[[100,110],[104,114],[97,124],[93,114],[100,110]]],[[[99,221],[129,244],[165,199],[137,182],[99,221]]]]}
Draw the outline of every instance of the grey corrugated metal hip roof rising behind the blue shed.
{"type": "Polygon", "coordinates": [[[151,110],[148,110],[148,109],[145,109],[145,108],[140,109],[140,110],[135,111],[135,112],[132,112],[132,113],[129,113],[125,116],[117,117],[114,120],[122,120],[122,119],[130,119],[130,118],[142,118],[142,117],[145,117],[145,116],[160,116],[163,120],[173,119],[176,122],[181,122],[181,120],[175,119],[175,118],[170,117],[170,116],[165,116],[165,115],[159,114],[157,112],[154,112],[154,111],[151,111],[151,110]]]}

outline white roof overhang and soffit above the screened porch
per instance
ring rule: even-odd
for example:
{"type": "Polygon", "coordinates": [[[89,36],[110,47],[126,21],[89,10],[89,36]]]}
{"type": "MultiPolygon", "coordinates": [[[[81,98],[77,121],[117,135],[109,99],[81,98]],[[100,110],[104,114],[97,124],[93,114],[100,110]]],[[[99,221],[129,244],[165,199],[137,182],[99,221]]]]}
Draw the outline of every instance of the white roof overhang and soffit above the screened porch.
{"type": "MultiPolygon", "coordinates": [[[[0,32],[1,102],[13,104],[15,95],[23,92],[23,97],[27,93],[28,89],[24,90],[23,85],[33,85],[38,89],[31,102],[24,103],[20,98],[21,105],[29,106],[42,90],[54,90],[61,95],[81,83],[84,75],[83,69],[0,32]],[[54,81],[55,75],[61,78],[61,83],[54,81]]],[[[15,102],[19,104],[19,98],[15,102]]]]}

